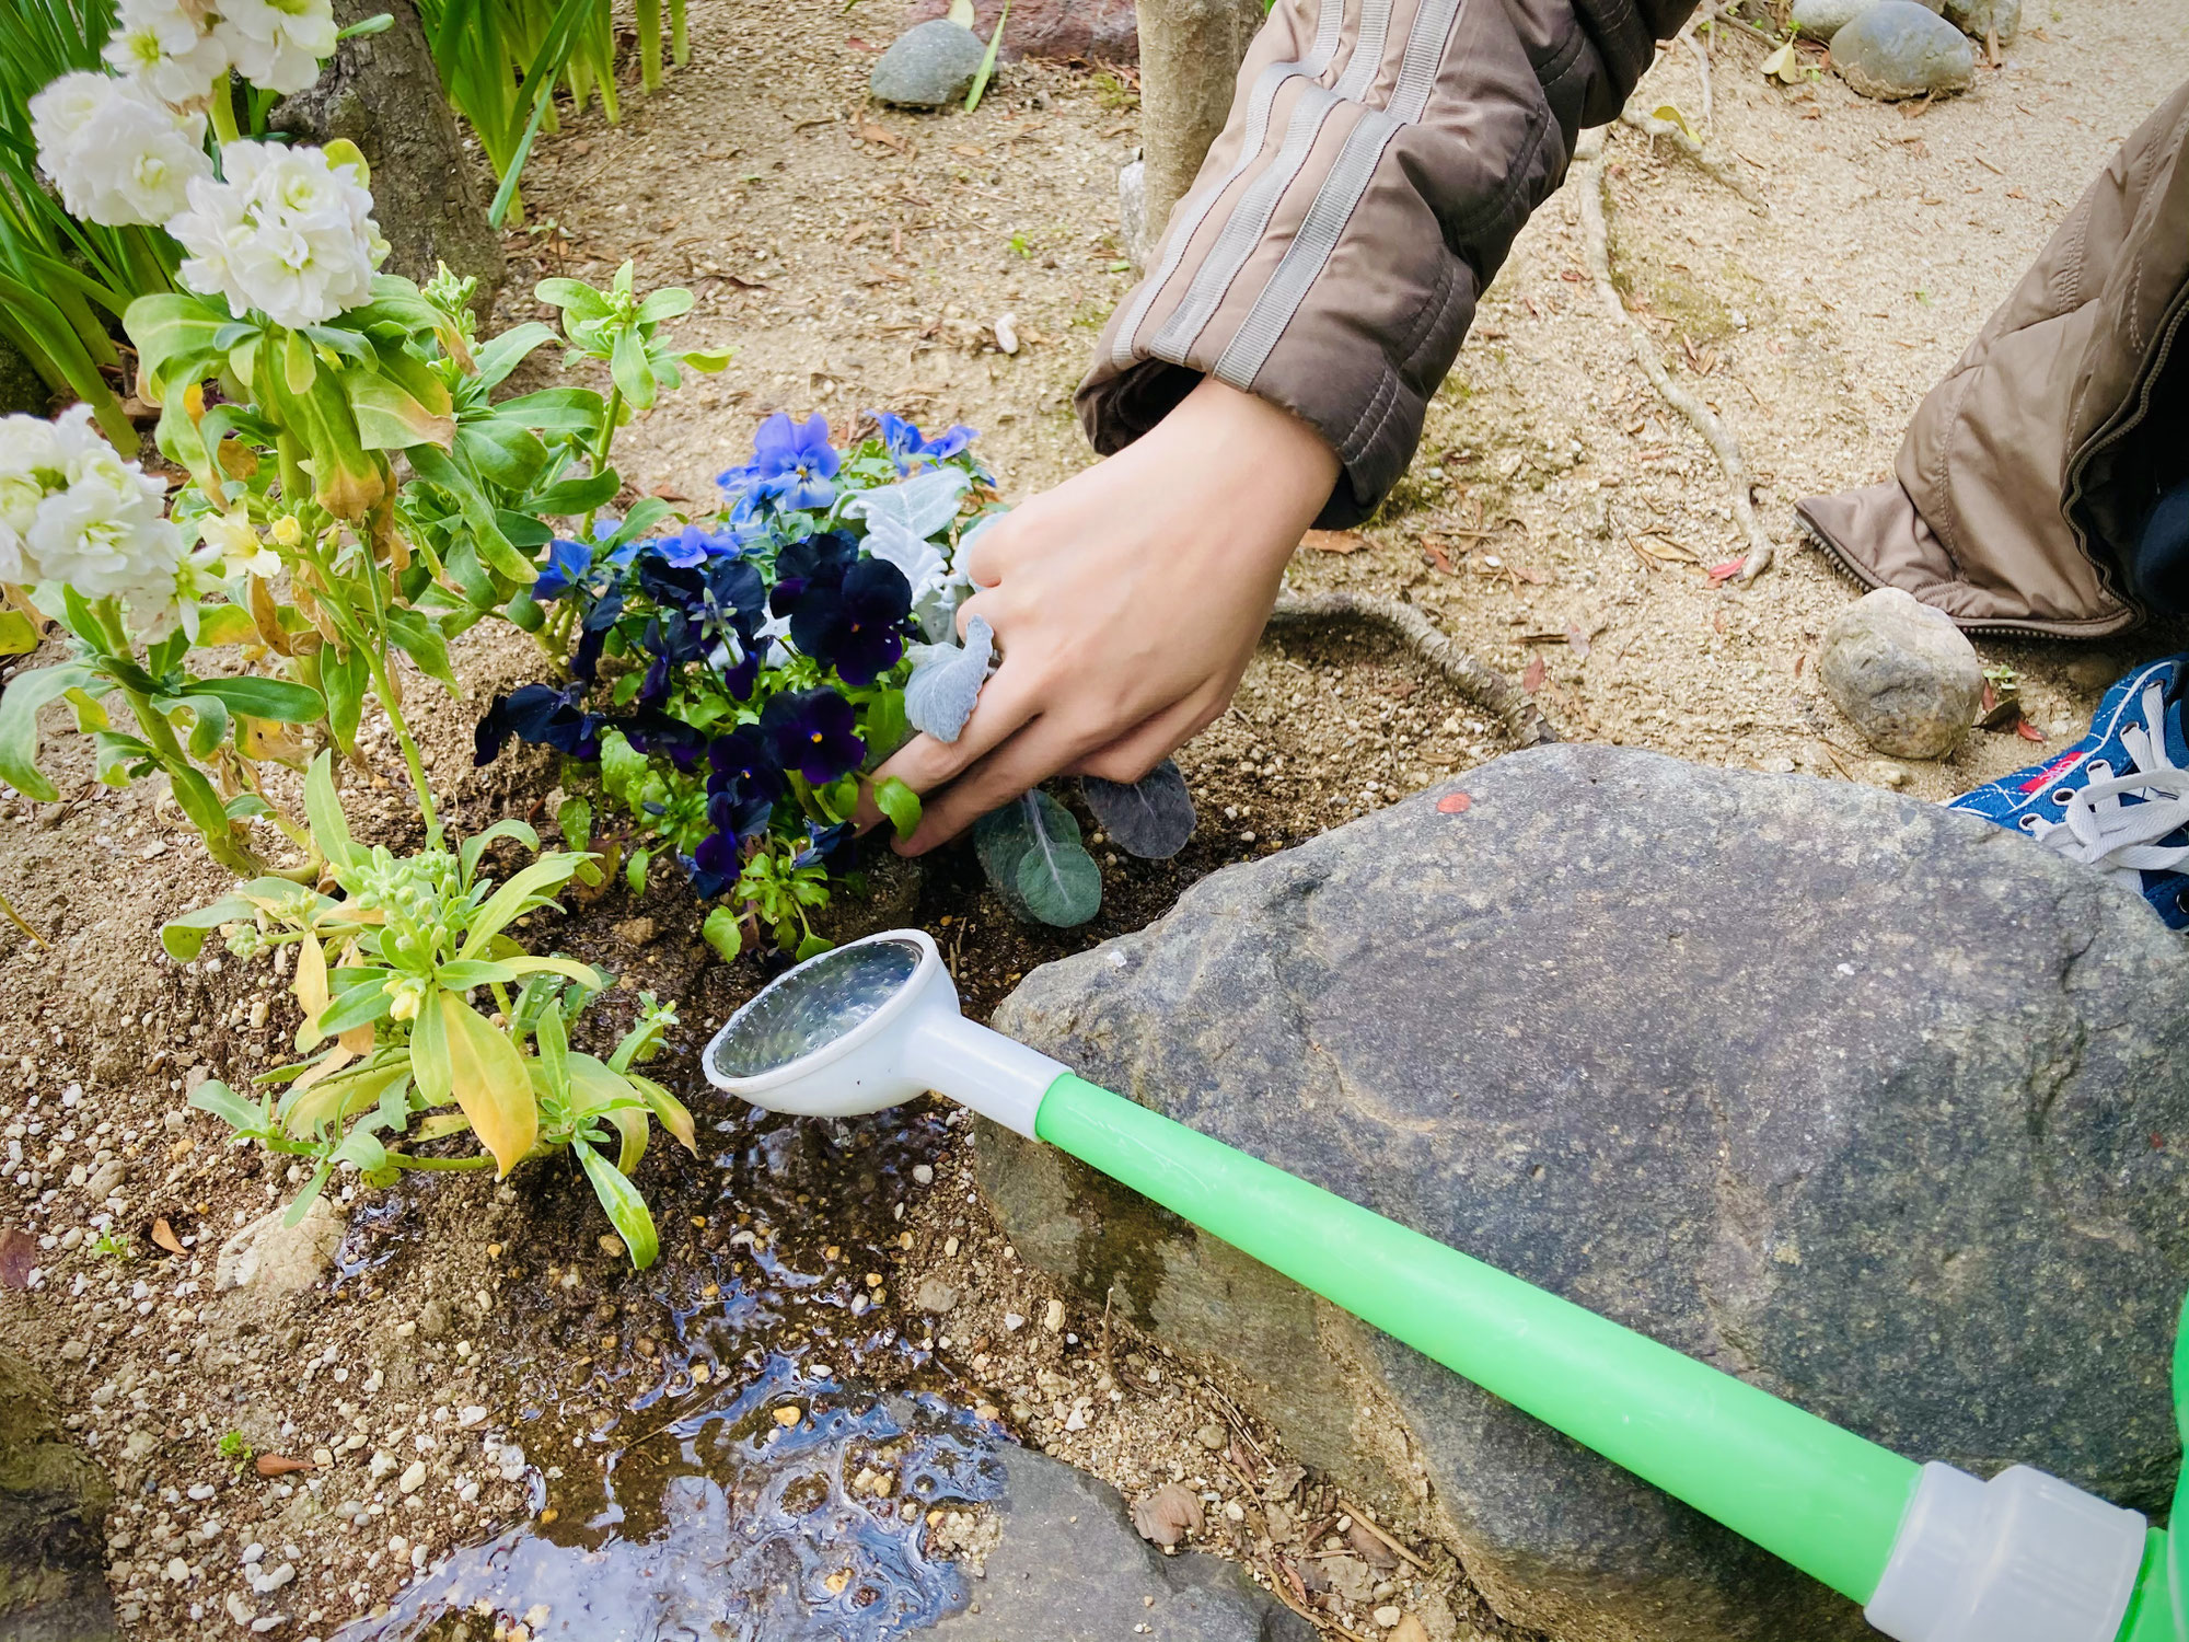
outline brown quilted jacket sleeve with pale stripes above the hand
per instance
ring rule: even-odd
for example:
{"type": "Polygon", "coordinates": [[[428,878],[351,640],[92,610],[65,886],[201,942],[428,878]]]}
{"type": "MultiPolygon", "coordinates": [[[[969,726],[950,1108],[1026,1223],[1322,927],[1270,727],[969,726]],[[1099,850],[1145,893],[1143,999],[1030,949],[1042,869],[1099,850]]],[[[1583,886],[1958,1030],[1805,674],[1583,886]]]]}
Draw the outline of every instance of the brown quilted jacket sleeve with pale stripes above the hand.
{"type": "Polygon", "coordinates": [[[1213,372],[1337,451],[1318,523],[1364,519],[1574,134],[1618,116],[1692,9],[1276,0],[1224,136],[1079,385],[1094,449],[1123,449],[1213,372]]]}

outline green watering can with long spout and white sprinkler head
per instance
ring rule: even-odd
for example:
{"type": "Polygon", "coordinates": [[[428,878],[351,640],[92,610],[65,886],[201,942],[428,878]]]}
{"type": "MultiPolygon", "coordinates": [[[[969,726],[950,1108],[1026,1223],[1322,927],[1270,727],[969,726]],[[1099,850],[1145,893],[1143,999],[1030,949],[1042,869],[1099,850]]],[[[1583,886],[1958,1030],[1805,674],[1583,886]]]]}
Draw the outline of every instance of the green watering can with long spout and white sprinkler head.
{"type": "MultiPolygon", "coordinates": [[[[2025,1465],[1981,1482],[1907,1460],[1097,1088],[965,1020],[919,930],[784,972],[716,1033],[705,1071],[814,1117],[937,1090],[1062,1147],[1784,1557],[1898,1642],[2189,1642],[2189,1535],[2025,1465]]],[[[2189,1335],[2174,1410],[2189,1441],[2189,1335]]]]}

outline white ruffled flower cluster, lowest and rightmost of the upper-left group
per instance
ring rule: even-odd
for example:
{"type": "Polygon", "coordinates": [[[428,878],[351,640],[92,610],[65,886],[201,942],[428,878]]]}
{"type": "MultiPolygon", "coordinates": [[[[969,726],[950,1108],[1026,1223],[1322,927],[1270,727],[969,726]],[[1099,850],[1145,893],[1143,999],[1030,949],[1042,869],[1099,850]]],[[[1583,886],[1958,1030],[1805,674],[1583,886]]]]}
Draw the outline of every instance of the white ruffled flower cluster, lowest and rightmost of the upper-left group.
{"type": "Polygon", "coordinates": [[[190,252],[182,282],[219,291],[239,320],[263,309],[276,324],[333,320],[372,300],[372,267],[387,254],[372,195],[320,149],[228,142],[225,182],[190,184],[190,208],[166,232],[190,252]]]}

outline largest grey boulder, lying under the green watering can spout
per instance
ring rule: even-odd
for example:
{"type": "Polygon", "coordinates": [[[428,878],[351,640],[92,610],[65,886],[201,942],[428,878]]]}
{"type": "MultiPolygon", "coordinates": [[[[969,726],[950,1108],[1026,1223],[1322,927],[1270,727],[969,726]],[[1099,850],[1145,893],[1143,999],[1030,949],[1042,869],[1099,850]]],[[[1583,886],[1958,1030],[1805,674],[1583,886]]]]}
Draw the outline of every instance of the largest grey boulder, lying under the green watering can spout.
{"type": "MultiPolygon", "coordinates": [[[[1195,884],[996,1025],[1915,1458],[2176,1469],[2189,948],[2018,834],[1611,747],[1195,884]]],[[[1018,1252],[1585,1642],[1867,1635],[1839,1596],[1062,1154],[1018,1252]]]]}

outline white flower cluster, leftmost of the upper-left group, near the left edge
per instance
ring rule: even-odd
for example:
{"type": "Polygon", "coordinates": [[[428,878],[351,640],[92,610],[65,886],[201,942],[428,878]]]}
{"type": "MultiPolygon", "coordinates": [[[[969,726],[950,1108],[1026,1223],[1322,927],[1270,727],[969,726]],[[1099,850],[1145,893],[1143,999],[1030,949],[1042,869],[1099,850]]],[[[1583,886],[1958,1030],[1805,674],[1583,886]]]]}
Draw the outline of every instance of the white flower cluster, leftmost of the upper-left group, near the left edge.
{"type": "Polygon", "coordinates": [[[144,85],[88,70],[31,99],[37,162],[61,204],[107,228],[158,228],[210,177],[206,116],[177,114],[144,85]]]}

